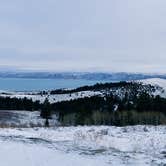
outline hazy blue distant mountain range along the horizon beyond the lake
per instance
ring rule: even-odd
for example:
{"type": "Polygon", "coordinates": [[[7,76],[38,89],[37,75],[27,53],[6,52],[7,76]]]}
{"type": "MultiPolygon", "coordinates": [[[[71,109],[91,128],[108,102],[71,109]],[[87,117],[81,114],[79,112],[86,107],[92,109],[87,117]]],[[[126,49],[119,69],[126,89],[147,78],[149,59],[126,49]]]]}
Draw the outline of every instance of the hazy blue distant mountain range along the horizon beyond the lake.
{"type": "Polygon", "coordinates": [[[104,81],[129,81],[149,78],[166,79],[166,74],[142,73],[53,73],[53,72],[0,72],[1,78],[33,78],[33,79],[84,79],[104,81]]]}

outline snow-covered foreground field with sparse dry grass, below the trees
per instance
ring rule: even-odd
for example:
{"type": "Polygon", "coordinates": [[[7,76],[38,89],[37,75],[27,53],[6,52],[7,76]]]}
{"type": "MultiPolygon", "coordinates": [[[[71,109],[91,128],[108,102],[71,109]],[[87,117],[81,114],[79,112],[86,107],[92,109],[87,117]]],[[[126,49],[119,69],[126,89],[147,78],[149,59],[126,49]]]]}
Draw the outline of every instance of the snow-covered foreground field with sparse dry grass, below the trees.
{"type": "Polygon", "coordinates": [[[2,166],[166,164],[166,126],[0,129],[2,166]]]}

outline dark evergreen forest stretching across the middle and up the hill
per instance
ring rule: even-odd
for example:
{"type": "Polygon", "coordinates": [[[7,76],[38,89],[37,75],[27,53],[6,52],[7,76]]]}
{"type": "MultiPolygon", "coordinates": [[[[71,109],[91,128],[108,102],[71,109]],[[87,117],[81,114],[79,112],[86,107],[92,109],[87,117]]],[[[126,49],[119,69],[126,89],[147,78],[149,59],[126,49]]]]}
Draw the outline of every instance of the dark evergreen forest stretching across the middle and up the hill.
{"type": "MultiPolygon", "coordinates": [[[[166,99],[154,96],[153,86],[143,86],[135,83],[106,83],[94,86],[85,86],[74,90],[74,93],[84,90],[105,90],[103,96],[91,96],[70,101],[44,103],[31,99],[0,97],[0,110],[28,110],[41,112],[41,117],[51,119],[56,114],[63,126],[76,125],[138,125],[166,124],[166,99]],[[113,89],[123,89],[119,95],[113,89]],[[109,93],[108,93],[109,92],[109,93]]],[[[66,93],[61,92],[52,93],[66,93]]]]}

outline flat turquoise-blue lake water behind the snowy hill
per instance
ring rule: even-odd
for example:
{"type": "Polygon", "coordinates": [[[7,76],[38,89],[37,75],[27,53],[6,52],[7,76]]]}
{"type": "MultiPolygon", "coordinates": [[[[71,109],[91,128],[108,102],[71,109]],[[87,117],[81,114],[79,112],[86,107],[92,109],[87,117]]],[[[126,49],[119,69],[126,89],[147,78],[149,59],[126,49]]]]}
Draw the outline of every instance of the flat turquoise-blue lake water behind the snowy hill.
{"type": "Polygon", "coordinates": [[[79,79],[24,79],[0,78],[0,90],[8,91],[38,91],[60,88],[76,88],[84,85],[93,85],[97,82],[79,79]]]}

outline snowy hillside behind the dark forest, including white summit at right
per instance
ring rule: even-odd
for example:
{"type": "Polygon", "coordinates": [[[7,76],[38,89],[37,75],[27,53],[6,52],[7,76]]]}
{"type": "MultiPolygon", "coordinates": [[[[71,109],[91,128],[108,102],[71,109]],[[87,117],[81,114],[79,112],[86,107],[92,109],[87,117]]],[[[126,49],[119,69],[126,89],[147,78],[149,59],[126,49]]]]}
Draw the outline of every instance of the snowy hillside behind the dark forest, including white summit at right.
{"type": "MultiPolygon", "coordinates": [[[[155,87],[155,91],[153,92],[154,95],[160,95],[161,97],[166,98],[166,79],[159,79],[159,78],[152,78],[152,79],[144,79],[139,81],[134,81],[136,83],[142,83],[143,85],[152,85],[155,87]]],[[[143,87],[142,89],[139,89],[139,91],[145,90],[149,87],[143,87]]],[[[149,88],[150,90],[150,88],[149,88]]],[[[126,92],[130,92],[130,89],[125,88],[112,88],[112,89],[105,89],[102,91],[79,91],[79,92],[73,92],[73,93],[66,93],[66,94],[40,94],[39,92],[5,92],[0,91],[0,97],[10,97],[10,98],[24,98],[32,99],[33,101],[39,100],[41,103],[44,102],[46,98],[50,101],[50,103],[56,103],[61,101],[69,101],[73,99],[78,98],[84,98],[84,97],[91,97],[100,95],[103,96],[103,94],[109,94],[113,93],[115,95],[118,95],[120,97],[123,97],[126,92]]]]}

